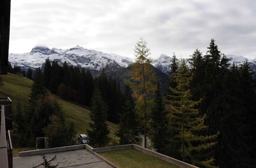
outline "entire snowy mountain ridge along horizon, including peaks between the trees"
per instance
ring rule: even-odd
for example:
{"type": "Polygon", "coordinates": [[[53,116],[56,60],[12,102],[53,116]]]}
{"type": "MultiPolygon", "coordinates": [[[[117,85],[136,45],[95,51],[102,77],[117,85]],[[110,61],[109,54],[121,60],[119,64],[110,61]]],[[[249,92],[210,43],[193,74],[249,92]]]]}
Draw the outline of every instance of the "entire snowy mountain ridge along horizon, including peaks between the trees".
{"type": "MultiPolygon", "coordinates": [[[[135,60],[129,57],[113,53],[104,53],[96,50],[85,49],[81,46],[75,46],[70,49],[57,49],[48,48],[46,46],[36,46],[30,52],[19,54],[10,53],[9,62],[12,65],[19,66],[22,70],[28,68],[44,67],[45,60],[49,58],[50,61],[57,61],[63,64],[65,61],[68,65],[77,66],[82,69],[89,69],[92,73],[96,74],[102,69],[105,71],[119,70],[129,67],[135,60]]],[[[243,56],[227,55],[229,62],[234,62],[237,65],[243,64],[248,61],[251,69],[256,70],[256,59],[248,60],[243,56]]],[[[188,63],[188,59],[185,59],[188,63]]],[[[158,59],[153,59],[152,65],[162,72],[168,74],[172,64],[172,58],[168,55],[161,54],[158,59]]]]}

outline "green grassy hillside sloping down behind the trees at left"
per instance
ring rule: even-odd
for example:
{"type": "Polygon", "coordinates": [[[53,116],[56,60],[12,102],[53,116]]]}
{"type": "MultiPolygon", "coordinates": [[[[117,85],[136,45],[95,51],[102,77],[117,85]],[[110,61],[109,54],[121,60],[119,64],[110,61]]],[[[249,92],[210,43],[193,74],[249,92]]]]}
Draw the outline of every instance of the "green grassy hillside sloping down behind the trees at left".
{"type": "MultiPolygon", "coordinates": [[[[16,103],[19,101],[22,106],[28,106],[29,94],[33,81],[20,77],[14,74],[0,75],[3,79],[4,86],[0,86],[0,97],[10,97],[13,101],[13,110],[15,111],[16,103]]],[[[89,129],[90,110],[86,106],[81,106],[77,103],[69,102],[61,99],[60,97],[51,94],[58,103],[61,105],[63,112],[66,115],[67,122],[74,122],[77,134],[87,134],[89,129]]],[[[107,122],[111,130],[111,137],[114,137],[113,133],[117,131],[118,125],[107,122]]]]}

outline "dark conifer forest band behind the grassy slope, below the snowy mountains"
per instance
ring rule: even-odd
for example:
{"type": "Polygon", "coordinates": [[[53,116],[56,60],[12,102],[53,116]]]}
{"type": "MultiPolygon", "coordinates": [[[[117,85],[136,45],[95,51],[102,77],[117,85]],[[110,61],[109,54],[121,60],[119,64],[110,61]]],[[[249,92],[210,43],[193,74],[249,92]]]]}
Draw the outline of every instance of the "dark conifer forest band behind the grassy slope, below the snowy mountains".
{"type": "Polygon", "coordinates": [[[108,105],[107,120],[119,123],[119,111],[122,108],[122,93],[119,83],[107,77],[104,70],[97,77],[93,77],[89,70],[81,71],[77,67],[68,66],[67,63],[59,65],[57,61],[45,62],[43,79],[46,89],[59,95],[63,99],[91,106],[94,90],[98,90],[108,105]]]}

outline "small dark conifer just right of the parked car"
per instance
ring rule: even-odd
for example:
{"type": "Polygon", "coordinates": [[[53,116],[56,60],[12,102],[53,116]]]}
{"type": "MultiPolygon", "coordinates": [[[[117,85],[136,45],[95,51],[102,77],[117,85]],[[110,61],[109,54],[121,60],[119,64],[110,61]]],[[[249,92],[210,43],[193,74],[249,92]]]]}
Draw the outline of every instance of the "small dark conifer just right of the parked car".
{"type": "Polygon", "coordinates": [[[91,115],[93,123],[90,123],[92,130],[88,130],[91,143],[96,147],[103,147],[109,142],[109,129],[106,124],[106,111],[108,106],[104,102],[100,92],[96,89],[92,97],[91,115]]]}

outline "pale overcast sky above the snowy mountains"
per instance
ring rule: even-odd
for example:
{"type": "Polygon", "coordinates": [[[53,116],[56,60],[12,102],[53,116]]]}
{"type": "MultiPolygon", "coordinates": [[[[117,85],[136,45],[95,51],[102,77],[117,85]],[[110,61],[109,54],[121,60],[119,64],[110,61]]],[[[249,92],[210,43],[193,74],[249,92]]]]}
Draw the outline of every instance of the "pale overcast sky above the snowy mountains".
{"type": "Polygon", "coordinates": [[[80,45],[134,57],[140,37],[152,58],[205,53],[211,38],[222,53],[256,58],[256,1],[11,1],[10,53],[80,45]]]}

